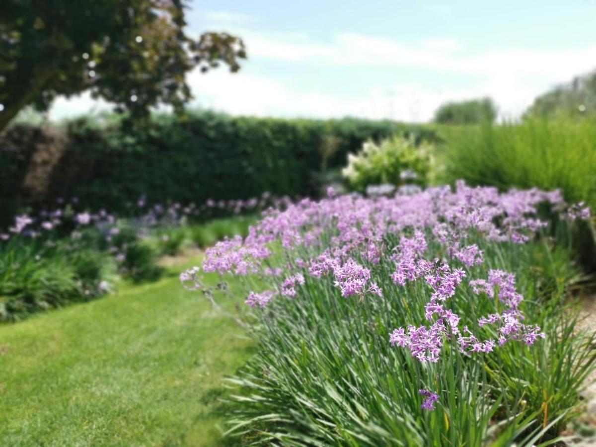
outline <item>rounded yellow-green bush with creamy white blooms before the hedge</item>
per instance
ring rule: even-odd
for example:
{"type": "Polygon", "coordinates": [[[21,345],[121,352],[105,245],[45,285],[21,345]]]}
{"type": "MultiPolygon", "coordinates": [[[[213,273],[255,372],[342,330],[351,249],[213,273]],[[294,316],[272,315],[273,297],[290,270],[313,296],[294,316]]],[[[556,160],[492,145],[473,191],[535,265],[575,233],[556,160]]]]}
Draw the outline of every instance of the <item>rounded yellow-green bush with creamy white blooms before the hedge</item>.
{"type": "Polygon", "coordinates": [[[356,191],[368,185],[411,183],[425,186],[429,174],[428,145],[417,147],[414,140],[401,136],[384,139],[379,144],[367,141],[358,154],[348,154],[342,174],[356,191]],[[411,179],[404,178],[406,176],[411,179]]]}

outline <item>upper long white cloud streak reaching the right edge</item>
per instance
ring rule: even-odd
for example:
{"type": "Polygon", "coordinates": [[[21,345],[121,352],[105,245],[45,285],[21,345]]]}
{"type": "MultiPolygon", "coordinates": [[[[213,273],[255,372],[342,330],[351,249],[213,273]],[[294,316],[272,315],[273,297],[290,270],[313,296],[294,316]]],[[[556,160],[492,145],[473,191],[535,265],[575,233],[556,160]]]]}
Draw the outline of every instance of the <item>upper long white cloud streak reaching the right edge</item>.
{"type": "Polygon", "coordinates": [[[426,39],[403,44],[395,39],[357,33],[340,33],[330,43],[290,41],[268,35],[243,34],[249,57],[276,61],[335,66],[412,67],[465,75],[495,73],[544,74],[561,77],[593,68],[596,42],[583,48],[497,48],[482,53],[461,51],[464,45],[453,38],[426,39]]]}

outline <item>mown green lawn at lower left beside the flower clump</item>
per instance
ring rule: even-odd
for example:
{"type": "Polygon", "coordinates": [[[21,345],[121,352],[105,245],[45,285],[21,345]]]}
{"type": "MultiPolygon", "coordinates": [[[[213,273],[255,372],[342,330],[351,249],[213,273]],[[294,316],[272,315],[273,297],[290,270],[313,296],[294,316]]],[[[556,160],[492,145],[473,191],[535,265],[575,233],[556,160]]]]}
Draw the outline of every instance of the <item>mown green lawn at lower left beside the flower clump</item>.
{"type": "Polygon", "coordinates": [[[0,445],[221,445],[222,378],[253,346],[179,284],[198,261],[0,327],[0,445]]]}

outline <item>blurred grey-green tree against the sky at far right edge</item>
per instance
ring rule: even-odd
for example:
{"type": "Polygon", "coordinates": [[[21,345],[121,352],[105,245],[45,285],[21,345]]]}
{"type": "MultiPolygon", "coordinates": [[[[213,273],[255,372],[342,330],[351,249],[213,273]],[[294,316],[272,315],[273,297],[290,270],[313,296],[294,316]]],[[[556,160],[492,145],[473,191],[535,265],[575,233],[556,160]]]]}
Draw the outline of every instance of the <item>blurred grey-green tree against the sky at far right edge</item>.
{"type": "Polygon", "coordinates": [[[563,114],[573,118],[596,115],[596,72],[578,76],[534,100],[526,117],[556,118],[563,114]]]}

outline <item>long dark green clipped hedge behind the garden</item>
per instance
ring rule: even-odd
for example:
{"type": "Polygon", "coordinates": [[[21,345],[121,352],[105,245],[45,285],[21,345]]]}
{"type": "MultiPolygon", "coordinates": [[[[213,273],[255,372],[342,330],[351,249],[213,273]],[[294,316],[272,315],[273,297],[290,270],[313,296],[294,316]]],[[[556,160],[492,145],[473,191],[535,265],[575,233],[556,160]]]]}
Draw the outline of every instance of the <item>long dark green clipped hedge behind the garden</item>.
{"type": "Polygon", "coordinates": [[[91,209],[125,212],[126,204],[141,194],[154,203],[249,198],[265,191],[312,195],[318,191],[321,144],[328,135],[339,138],[329,168],[343,166],[347,153],[368,138],[435,138],[424,126],[387,120],[261,119],[210,112],[191,113],[184,120],[157,115],[142,130],[123,128],[110,116],[67,122],[60,128],[65,138],[52,139],[47,130],[15,125],[0,139],[5,214],[73,196],[91,209]],[[49,150],[52,141],[60,141],[59,150],[49,150]],[[54,165],[45,172],[45,184],[38,175],[40,184],[32,187],[32,176],[25,179],[40,151],[48,151],[47,163],[54,165]]]}

